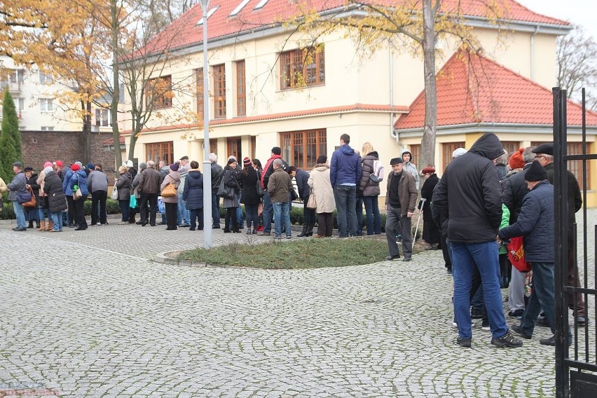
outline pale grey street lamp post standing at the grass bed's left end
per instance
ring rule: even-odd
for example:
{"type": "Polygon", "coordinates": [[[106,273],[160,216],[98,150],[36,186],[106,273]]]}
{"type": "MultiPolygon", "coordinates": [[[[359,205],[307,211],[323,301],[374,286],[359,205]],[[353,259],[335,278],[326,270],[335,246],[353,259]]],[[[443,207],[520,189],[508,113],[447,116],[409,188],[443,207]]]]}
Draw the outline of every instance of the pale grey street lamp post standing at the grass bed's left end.
{"type": "Polygon", "coordinates": [[[207,11],[210,0],[201,0],[203,10],[203,247],[212,247],[212,163],[210,162],[210,68],[207,64],[207,11]]]}

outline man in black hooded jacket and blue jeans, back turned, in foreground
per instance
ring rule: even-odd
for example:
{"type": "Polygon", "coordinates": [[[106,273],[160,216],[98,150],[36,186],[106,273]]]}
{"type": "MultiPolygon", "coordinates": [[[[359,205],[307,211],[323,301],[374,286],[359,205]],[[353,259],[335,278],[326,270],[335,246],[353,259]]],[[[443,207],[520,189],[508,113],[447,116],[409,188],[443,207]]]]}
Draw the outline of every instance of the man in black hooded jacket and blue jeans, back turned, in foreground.
{"type": "Polygon", "coordinates": [[[496,238],[502,221],[502,188],[495,172],[495,160],[502,153],[502,143],[495,134],[481,136],[467,153],[446,167],[433,194],[434,207],[448,220],[454,315],[458,324],[456,343],[462,347],[470,347],[472,342],[470,290],[475,263],[483,284],[491,344],[509,348],[522,346],[522,341],[508,330],[500,291],[496,238]]]}

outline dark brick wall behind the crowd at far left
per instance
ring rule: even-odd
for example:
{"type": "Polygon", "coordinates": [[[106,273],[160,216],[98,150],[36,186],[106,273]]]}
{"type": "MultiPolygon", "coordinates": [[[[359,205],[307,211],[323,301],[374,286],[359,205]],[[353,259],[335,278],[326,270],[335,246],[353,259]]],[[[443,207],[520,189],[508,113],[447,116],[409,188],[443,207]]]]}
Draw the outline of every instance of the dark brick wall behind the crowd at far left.
{"type": "Polygon", "coordinates": [[[88,161],[101,163],[110,183],[117,174],[114,151],[104,148],[102,142],[110,139],[106,133],[92,132],[90,135],[91,159],[81,159],[83,156],[83,140],[81,132],[75,131],[22,131],[23,163],[32,165],[39,172],[46,161],[62,160],[64,164],[81,160],[84,165],[88,161]]]}

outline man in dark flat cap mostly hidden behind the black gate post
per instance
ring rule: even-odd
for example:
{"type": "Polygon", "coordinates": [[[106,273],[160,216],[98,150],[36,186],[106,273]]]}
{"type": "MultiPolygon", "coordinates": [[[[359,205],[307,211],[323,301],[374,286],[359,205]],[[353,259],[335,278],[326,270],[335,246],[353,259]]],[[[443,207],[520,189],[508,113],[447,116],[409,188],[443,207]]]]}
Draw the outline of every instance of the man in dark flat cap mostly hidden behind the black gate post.
{"type": "MultiPolygon", "coordinates": [[[[535,153],[535,159],[537,159],[545,168],[549,184],[553,185],[554,143],[547,142],[545,144],[540,144],[533,149],[533,153],[535,153]]],[[[580,287],[578,264],[576,262],[575,256],[576,239],[574,233],[574,224],[576,222],[575,213],[580,210],[580,207],[582,207],[582,196],[580,195],[580,188],[574,174],[568,170],[566,170],[566,174],[568,175],[568,179],[566,181],[568,184],[568,284],[570,286],[580,287]]],[[[574,308],[574,296],[574,294],[570,292],[568,293],[568,307],[570,307],[570,310],[574,311],[574,316],[576,317],[577,323],[579,325],[584,325],[587,318],[584,311],[584,300],[582,299],[582,294],[578,293],[576,295],[577,308],[574,308]]],[[[542,320],[542,318],[537,320],[537,324],[540,324],[541,326],[548,326],[547,322],[542,320]]]]}

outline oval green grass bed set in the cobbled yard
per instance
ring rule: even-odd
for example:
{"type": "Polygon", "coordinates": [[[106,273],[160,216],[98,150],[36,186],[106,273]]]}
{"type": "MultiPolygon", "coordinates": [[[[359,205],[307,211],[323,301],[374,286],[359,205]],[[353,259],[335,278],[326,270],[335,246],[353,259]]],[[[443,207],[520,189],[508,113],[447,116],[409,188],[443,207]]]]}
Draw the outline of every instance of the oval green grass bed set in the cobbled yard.
{"type": "Polygon", "coordinates": [[[279,242],[237,242],[212,249],[181,252],[177,259],[220,266],[263,269],[306,269],[358,266],[385,260],[387,243],[375,238],[282,239],[279,242]]]}

